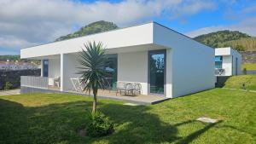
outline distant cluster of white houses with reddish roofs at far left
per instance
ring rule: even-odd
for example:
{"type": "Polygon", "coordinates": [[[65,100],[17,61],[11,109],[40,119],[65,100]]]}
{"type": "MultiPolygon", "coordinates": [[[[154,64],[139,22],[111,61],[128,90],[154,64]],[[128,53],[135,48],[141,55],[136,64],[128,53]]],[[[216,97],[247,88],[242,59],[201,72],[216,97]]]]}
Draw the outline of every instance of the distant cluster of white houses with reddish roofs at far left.
{"type": "Polygon", "coordinates": [[[0,71],[15,71],[15,70],[27,70],[27,69],[38,69],[38,65],[34,63],[22,62],[22,61],[0,61],[0,71]]]}

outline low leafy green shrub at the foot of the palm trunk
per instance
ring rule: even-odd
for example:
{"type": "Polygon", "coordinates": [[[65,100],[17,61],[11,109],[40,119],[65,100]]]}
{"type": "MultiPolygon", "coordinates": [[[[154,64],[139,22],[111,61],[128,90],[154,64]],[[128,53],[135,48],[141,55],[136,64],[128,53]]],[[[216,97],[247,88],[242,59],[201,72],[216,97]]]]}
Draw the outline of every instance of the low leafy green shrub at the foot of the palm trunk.
{"type": "Polygon", "coordinates": [[[91,137],[109,135],[113,132],[113,123],[102,112],[91,112],[87,121],[86,134],[91,137]]]}

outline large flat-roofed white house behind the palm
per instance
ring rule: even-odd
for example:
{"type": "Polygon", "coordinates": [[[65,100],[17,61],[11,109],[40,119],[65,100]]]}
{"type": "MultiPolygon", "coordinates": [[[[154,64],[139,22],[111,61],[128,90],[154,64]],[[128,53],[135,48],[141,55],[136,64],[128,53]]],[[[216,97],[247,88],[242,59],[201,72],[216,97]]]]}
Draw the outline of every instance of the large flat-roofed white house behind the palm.
{"type": "MultiPolygon", "coordinates": [[[[112,86],[136,82],[143,95],[169,98],[214,87],[214,49],[156,22],[21,49],[20,57],[41,60],[42,81],[60,78],[58,90],[68,91],[70,78],[79,78],[78,53],[89,41],[106,45],[112,86]]],[[[21,89],[40,87],[31,82],[38,79],[21,78],[21,89]]]]}

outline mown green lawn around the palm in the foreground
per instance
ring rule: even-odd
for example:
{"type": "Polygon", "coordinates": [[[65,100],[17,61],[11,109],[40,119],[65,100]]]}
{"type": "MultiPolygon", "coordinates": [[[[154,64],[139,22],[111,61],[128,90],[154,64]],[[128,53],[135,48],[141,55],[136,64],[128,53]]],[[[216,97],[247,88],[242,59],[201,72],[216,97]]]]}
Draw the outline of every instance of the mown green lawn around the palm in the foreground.
{"type": "Polygon", "coordinates": [[[91,100],[79,95],[0,96],[0,143],[255,143],[256,93],[211,89],[153,106],[100,100],[113,135],[89,138],[84,128],[91,100]],[[203,124],[199,117],[218,118],[203,124]]]}

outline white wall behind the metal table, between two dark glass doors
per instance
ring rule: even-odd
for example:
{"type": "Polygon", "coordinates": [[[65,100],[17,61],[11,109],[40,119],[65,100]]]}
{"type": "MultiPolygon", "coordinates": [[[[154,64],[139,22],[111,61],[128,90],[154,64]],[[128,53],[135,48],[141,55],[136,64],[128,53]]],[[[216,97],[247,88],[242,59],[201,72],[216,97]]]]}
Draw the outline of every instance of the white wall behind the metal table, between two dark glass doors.
{"type": "Polygon", "coordinates": [[[148,95],[148,51],[118,54],[118,81],[140,83],[148,95]]]}

